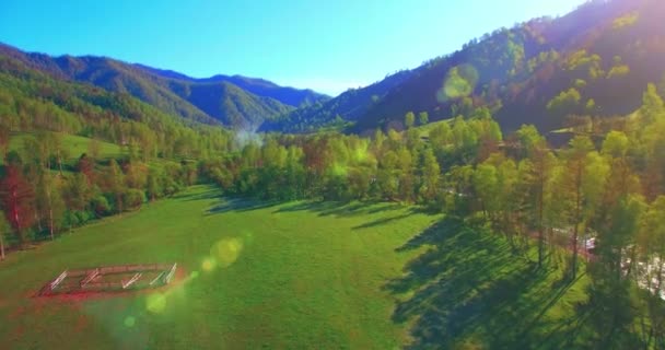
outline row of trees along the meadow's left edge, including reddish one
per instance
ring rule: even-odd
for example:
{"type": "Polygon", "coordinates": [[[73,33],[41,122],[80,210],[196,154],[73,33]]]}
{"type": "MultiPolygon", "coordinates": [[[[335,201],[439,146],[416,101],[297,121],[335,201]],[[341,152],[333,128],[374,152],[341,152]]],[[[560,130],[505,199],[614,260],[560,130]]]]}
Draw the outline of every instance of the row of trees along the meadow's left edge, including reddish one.
{"type": "Polygon", "coordinates": [[[12,243],[24,246],[32,240],[50,237],[90,220],[139,209],[147,200],[177,192],[197,182],[197,164],[161,160],[145,163],[140,156],[101,159],[98,142],[73,162],[59,133],[42,131],[26,137],[23,148],[4,154],[0,197],[4,211],[2,235],[13,232],[12,243]]]}

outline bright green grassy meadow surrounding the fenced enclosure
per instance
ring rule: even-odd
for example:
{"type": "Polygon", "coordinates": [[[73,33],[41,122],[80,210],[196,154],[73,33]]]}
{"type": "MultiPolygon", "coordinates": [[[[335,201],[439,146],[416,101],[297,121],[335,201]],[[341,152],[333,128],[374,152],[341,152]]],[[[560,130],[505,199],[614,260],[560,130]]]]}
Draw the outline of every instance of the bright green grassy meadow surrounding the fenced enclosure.
{"type": "Polygon", "coordinates": [[[584,279],[558,280],[411,207],[199,186],[0,262],[0,349],[570,348],[584,279]],[[171,261],[167,290],[33,296],[67,268],[171,261]]]}

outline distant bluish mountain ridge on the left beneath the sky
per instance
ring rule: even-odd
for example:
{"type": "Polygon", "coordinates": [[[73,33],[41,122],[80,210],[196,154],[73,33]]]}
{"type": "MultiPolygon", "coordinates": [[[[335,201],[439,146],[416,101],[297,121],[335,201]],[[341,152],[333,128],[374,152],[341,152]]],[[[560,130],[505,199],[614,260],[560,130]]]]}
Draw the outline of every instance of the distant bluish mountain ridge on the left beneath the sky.
{"type": "Polygon", "coordinates": [[[296,107],[329,100],[312,90],[282,88],[262,79],[185,74],[106,57],[30,54],[0,44],[0,55],[56,79],[127,93],[164,113],[207,124],[257,128],[296,107]]]}

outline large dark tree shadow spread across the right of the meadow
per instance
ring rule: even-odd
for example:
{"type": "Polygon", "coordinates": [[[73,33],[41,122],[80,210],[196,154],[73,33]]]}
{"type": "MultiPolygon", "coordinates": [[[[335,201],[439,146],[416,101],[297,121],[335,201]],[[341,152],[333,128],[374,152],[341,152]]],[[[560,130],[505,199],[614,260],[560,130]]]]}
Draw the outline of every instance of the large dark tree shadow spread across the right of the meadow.
{"type": "Polygon", "coordinates": [[[408,324],[409,349],[570,349],[582,315],[548,313],[571,283],[512,254],[498,235],[444,219],[397,252],[425,249],[385,289],[399,301],[393,322],[408,324]]]}

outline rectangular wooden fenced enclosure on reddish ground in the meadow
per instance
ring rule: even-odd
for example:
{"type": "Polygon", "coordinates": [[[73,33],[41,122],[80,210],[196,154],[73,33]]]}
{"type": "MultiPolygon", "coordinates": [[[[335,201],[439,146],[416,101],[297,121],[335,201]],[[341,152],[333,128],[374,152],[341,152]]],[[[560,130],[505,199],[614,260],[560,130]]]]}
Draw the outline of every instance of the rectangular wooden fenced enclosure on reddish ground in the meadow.
{"type": "Polygon", "coordinates": [[[65,270],[46,283],[39,295],[158,288],[171,283],[176,269],[177,264],[147,264],[65,270]]]}

